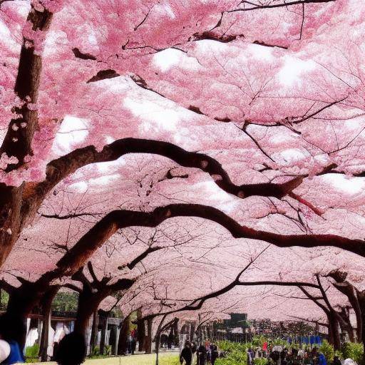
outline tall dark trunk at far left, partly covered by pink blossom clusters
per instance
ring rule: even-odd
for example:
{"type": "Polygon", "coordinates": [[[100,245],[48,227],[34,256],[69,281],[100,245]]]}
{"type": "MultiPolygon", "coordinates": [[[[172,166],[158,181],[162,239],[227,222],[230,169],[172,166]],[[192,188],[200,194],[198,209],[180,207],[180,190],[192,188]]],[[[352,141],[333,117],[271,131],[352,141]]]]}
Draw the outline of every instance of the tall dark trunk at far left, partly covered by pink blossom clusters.
{"type": "MultiPolygon", "coordinates": [[[[34,31],[47,31],[51,24],[52,14],[47,11],[37,11],[33,8],[29,12],[27,21],[32,24],[34,31]]],[[[19,118],[13,119],[9,123],[4,140],[0,146],[0,156],[6,153],[8,157],[14,156],[17,163],[7,165],[6,172],[19,168],[24,164],[26,155],[31,155],[31,142],[34,132],[38,128],[38,112],[28,108],[28,103],[36,103],[38,99],[38,87],[41,81],[42,58],[34,52],[34,47],[26,46],[32,42],[23,39],[21,53],[19,57],[18,74],[14,91],[17,96],[24,101],[21,108],[16,108],[19,118]],[[27,100],[27,97],[30,100],[27,100]],[[24,127],[25,123],[25,127],[24,127]]],[[[36,211],[36,202],[27,201],[24,203],[24,193],[28,195],[26,184],[19,187],[6,186],[0,183],[0,267],[9,256],[16,240],[24,227],[26,220],[32,212],[36,211]]],[[[27,196],[29,197],[29,196],[27,196]]]]}

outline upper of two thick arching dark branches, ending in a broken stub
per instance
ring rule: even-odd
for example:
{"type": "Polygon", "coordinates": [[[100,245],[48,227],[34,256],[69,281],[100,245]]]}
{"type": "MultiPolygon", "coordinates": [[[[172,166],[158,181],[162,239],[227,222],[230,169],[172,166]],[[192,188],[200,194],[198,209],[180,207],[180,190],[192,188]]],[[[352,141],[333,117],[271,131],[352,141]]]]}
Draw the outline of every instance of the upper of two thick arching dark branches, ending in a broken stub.
{"type": "Polygon", "coordinates": [[[57,183],[66,176],[74,173],[78,168],[91,163],[101,163],[117,160],[128,153],[150,153],[170,158],[186,168],[198,168],[209,173],[215,183],[225,192],[241,198],[259,195],[265,197],[281,198],[298,187],[304,176],[298,176],[287,183],[257,183],[235,185],[230,180],[222,165],[214,158],[204,153],[189,152],[173,143],[160,140],[145,140],[138,138],[124,138],[106,145],[98,152],[93,145],[78,148],[61,158],[48,163],[46,168],[46,180],[30,187],[37,195],[46,195],[57,183]]]}

